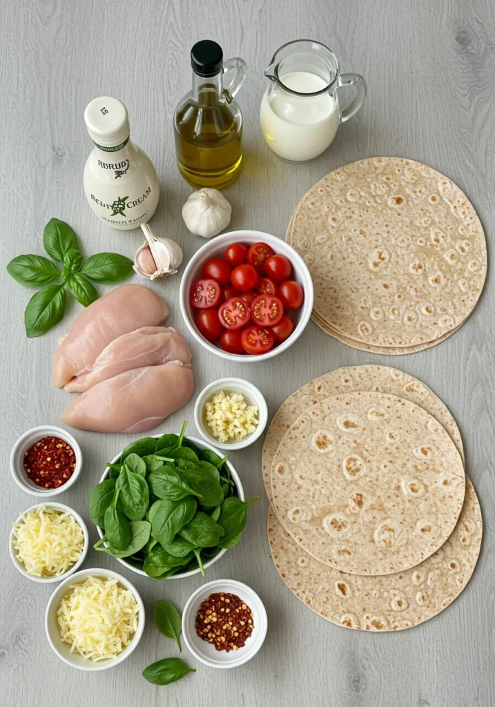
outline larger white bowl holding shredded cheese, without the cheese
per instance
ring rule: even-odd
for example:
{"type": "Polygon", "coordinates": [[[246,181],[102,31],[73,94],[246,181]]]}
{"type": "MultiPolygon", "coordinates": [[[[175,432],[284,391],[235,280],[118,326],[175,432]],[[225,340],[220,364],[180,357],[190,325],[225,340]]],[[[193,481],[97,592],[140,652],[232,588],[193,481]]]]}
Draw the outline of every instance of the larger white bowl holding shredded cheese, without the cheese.
{"type": "Polygon", "coordinates": [[[112,570],[103,570],[100,568],[81,570],[80,572],[76,572],[71,575],[71,577],[64,580],[64,582],[57,587],[50,597],[50,601],[48,602],[47,610],[45,612],[45,631],[47,632],[48,641],[55,653],[57,653],[59,658],[64,660],[64,662],[68,665],[76,667],[78,670],[88,670],[91,672],[96,672],[97,670],[107,670],[110,667],[119,665],[119,663],[126,658],[129,658],[129,655],[131,655],[132,651],[137,648],[139,641],[141,641],[145,622],[146,614],[144,612],[143,600],[139,596],[139,592],[136,590],[134,585],[131,584],[128,579],[122,577],[122,575],[117,574],[117,572],[113,572],[112,570]],[[117,658],[109,658],[98,662],[93,662],[91,659],[86,660],[82,655],[79,655],[79,653],[71,653],[71,646],[69,643],[64,643],[62,638],[60,638],[59,626],[57,624],[57,609],[60,606],[60,602],[62,602],[62,597],[69,592],[70,585],[82,584],[88,577],[117,579],[124,589],[130,590],[134,594],[134,597],[136,597],[136,602],[139,607],[137,631],[134,633],[129,645],[122,650],[122,653],[117,655],[117,658]]]}

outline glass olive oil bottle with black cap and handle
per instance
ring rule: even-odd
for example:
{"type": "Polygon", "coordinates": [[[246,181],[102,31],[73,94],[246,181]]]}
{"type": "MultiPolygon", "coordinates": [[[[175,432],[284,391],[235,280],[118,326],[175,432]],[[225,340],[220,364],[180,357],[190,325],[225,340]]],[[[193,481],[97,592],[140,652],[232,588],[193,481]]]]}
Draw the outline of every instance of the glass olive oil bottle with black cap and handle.
{"type": "Polygon", "coordinates": [[[182,177],[192,187],[223,189],[235,180],[243,160],[243,117],[233,102],[245,78],[242,59],[223,62],[211,40],[191,49],[192,91],[174,116],[175,153],[182,177]],[[223,86],[223,77],[230,81],[223,86]]]}

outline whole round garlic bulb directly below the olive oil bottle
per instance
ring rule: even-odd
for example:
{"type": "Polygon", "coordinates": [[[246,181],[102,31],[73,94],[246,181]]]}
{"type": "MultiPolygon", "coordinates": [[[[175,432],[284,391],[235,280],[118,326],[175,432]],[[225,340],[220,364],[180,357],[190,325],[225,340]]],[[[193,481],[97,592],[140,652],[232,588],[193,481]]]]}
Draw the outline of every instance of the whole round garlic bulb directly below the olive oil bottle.
{"type": "Polygon", "coordinates": [[[204,187],[182,206],[182,218],[191,233],[211,238],[231,222],[232,206],[218,189],[204,187]]]}

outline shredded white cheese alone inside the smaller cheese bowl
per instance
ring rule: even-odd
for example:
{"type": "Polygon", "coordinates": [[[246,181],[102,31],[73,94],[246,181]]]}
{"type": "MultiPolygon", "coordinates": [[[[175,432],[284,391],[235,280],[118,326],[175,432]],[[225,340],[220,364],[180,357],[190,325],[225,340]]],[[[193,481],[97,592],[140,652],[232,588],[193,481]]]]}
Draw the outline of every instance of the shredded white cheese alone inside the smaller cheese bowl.
{"type": "Polygon", "coordinates": [[[81,557],[84,534],[70,513],[40,506],[13,524],[16,558],[34,577],[58,577],[81,557]]]}

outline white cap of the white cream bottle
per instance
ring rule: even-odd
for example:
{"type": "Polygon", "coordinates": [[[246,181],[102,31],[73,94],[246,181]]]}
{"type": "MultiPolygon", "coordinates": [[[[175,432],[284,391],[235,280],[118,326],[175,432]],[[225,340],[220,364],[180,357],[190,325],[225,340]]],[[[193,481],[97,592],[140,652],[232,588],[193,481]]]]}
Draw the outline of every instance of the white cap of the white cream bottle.
{"type": "Polygon", "coordinates": [[[120,150],[129,140],[127,108],[117,98],[92,100],[84,111],[84,121],[94,144],[106,152],[120,150]]]}

